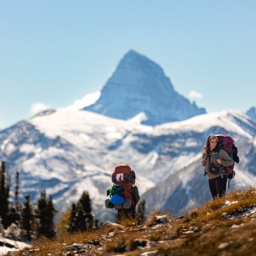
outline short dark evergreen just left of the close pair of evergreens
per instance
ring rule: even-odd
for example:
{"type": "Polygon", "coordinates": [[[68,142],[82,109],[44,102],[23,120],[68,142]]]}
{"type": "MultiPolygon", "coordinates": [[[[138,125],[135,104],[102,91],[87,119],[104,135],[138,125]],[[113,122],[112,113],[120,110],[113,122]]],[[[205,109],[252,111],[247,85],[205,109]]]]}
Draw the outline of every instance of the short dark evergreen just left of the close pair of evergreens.
{"type": "Polygon", "coordinates": [[[32,213],[32,206],[30,204],[30,197],[25,196],[26,201],[23,204],[20,226],[26,230],[26,239],[31,240],[32,226],[34,222],[34,216],[32,213]]]}

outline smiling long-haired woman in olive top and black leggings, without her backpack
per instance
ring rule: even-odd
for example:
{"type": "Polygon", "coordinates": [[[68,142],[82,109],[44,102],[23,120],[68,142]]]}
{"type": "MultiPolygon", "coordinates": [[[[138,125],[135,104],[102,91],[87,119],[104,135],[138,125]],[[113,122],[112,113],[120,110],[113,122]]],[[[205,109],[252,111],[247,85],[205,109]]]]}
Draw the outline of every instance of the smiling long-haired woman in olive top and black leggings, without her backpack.
{"type": "Polygon", "coordinates": [[[215,135],[210,135],[207,138],[201,162],[205,166],[204,171],[208,177],[212,198],[225,196],[227,175],[221,172],[223,166],[230,166],[233,160],[220,148],[218,138],[215,135]]]}

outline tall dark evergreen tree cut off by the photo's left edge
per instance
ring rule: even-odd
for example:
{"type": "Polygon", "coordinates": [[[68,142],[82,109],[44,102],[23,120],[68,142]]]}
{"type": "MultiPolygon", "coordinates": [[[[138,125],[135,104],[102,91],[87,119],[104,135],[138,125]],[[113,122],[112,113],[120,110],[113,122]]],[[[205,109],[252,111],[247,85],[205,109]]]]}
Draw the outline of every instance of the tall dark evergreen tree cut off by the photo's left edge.
{"type": "Polygon", "coordinates": [[[9,205],[10,175],[6,172],[5,162],[2,161],[0,169],[0,217],[5,226],[6,214],[9,205]]]}

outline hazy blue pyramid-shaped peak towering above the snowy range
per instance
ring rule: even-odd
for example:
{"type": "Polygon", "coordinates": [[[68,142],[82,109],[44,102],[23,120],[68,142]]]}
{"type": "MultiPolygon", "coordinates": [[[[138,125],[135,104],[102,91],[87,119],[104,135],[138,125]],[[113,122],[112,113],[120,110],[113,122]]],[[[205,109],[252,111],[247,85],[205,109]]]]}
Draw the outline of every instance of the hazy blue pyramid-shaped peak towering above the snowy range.
{"type": "Polygon", "coordinates": [[[185,120],[205,113],[178,94],[157,63],[131,50],[106,82],[100,98],[84,108],[106,116],[130,119],[143,112],[143,124],[185,120]]]}

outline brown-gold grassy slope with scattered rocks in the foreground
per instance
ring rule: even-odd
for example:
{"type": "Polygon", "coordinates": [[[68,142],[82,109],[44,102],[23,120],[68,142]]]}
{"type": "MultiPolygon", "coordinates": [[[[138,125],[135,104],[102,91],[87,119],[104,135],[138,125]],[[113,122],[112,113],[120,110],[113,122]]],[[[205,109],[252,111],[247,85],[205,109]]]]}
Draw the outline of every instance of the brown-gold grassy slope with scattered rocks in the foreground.
{"type": "MultiPolygon", "coordinates": [[[[103,233],[42,240],[34,245],[39,250],[33,255],[74,255],[74,251],[63,249],[73,243],[83,244],[79,255],[140,255],[145,251],[156,255],[256,255],[255,206],[256,189],[233,191],[225,198],[192,209],[182,219],[170,218],[165,224],[156,223],[156,216],[162,213],[155,212],[145,225],[123,220],[122,229],[110,227],[103,233]]],[[[22,255],[23,251],[14,255],[22,255]]]]}

